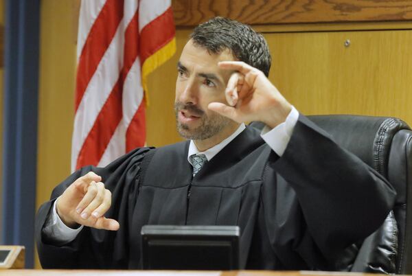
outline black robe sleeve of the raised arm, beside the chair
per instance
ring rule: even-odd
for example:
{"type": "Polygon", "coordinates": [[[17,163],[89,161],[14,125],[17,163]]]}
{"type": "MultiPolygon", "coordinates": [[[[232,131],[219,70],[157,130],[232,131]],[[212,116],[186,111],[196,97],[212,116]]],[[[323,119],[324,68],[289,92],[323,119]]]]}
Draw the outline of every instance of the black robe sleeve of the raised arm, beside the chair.
{"type": "Polygon", "coordinates": [[[378,229],[395,202],[396,192],[383,176],[302,115],[286,151],[269,165],[296,193],[305,226],[295,248],[309,262],[313,244],[334,262],[378,229]]]}

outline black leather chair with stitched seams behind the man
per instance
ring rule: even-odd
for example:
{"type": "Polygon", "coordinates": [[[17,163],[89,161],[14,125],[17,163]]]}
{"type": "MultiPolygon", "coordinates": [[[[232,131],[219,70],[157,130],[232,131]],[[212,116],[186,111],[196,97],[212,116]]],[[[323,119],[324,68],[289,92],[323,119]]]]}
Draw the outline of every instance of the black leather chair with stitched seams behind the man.
{"type": "MultiPolygon", "coordinates": [[[[412,274],[412,131],[400,119],[358,115],[308,116],[336,143],[395,187],[396,205],[380,229],[350,246],[336,270],[412,274]]],[[[252,123],[255,124],[255,123],[252,123]]],[[[259,123],[255,126],[259,127],[259,123]]]]}

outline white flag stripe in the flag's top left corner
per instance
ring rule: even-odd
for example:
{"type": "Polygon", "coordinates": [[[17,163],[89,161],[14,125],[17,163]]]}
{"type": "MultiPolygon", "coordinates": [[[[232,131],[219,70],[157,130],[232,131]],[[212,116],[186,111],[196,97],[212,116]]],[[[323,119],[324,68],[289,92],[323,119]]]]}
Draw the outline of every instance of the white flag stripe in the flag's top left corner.
{"type": "Polygon", "coordinates": [[[106,0],[82,0],[79,13],[79,30],[77,41],[77,61],[94,21],[98,18],[106,0]]]}

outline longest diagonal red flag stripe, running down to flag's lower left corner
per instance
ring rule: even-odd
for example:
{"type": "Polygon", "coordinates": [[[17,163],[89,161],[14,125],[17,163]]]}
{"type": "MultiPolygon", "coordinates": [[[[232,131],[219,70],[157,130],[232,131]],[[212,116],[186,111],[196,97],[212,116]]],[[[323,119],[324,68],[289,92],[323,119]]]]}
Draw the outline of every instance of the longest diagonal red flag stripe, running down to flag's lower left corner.
{"type": "Polygon", "coordinates": [[[108,143],[110,143],[111,137],[115,133],[115,130],[122,119],[123,84],[138,55],[138,22],[136,12],[124,33],[124,66],[122,68],[122,73],[120,73],[115,87],[111,91],[107,101],[104,103],[98,117],[95,119],[95,123],[93,124],[90,133],[84,140],[82,149],[78,155],[76,168],[81,168],[88,164],[99,163],[108,143]]]}

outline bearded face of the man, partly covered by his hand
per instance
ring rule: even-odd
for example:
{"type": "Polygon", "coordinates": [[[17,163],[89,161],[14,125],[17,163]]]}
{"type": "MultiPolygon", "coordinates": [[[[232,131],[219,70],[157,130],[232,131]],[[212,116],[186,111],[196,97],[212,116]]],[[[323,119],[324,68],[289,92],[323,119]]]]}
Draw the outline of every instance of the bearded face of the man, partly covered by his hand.
{"type": "Polygon", "coordinates": [[[231,72],[218,68],[218,62],[224,60],[235,60],[229,50],[209,54],[192,41],[183,48],[177,65],[174,102],[177,130],[182,137],[204,140],[233,128],[231,119],[207,108],[211,102],[226,103],[225,89],[231,72]]]}

